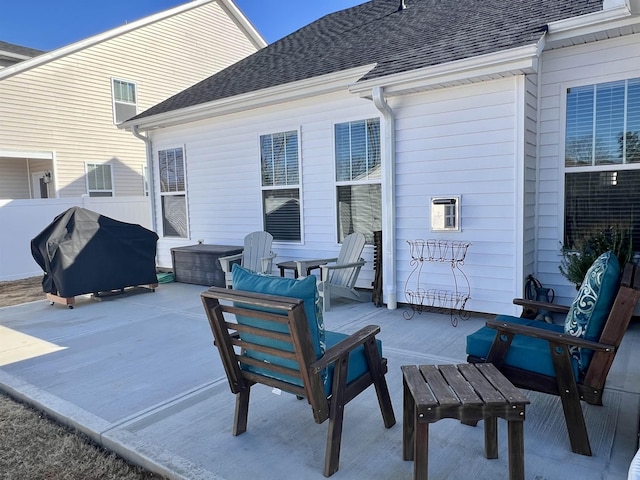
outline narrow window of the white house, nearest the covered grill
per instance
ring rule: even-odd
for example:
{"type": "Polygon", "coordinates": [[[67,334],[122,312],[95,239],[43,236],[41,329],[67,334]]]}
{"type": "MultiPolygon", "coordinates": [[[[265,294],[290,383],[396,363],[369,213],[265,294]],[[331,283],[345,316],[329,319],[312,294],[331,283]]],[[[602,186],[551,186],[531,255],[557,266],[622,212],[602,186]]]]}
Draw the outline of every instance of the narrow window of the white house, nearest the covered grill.
{"type": "Polygon", "coordinates": [[[184,150],[158,151],[162,229],[165,237],[188,237],[184,150]]]}

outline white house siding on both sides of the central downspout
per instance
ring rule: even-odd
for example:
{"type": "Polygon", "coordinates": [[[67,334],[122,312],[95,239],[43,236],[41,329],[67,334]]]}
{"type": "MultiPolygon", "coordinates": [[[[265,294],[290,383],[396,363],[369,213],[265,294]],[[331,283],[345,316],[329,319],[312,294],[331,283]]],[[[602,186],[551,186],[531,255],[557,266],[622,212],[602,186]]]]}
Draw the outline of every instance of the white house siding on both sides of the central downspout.
{"type": "MultiPolygon", "coordinates": [[[[397,118],[398,301],[405,301],[404,282],[411,272],[406,240],[430,234],[431,196],[460,195],[463,230],[439,237],[472,242],[465,263],[472,297],[468,308],[514,311],[515,164],[522,161],[516,158],[515,141],[515,115],[522,111],[514,95],[518,85],[515,79],[505,79],[389,100],[397,118]]],[[[159,129],[153,132],[153,145],[164,149],[180,142],[189,152],[190,238],[242,245],[247,232],[263,226],[262,197],[256,188],[261,181],[256,167],[260,135],[265,125],[274,132],[289,131],[295,118],[300,125],[304,235],[300,245],[274,241],[273,248],[277,262],[328,258],[340,250],[334,127],[378,116],[370,100],[345,91],[159,129]]],[[[386,188],[384,179],[381,188],[386,188]]],[[[171,265],[169,248],[175,245],[170,239],[160,240],[161,266],[171,265]]],[[[363,258],[367,264],[358,286],[371,288],[371,245],[363,258]]],[[[443,285],[452,281],[450,268],[436,269],[433,276],[443,285]]]]}

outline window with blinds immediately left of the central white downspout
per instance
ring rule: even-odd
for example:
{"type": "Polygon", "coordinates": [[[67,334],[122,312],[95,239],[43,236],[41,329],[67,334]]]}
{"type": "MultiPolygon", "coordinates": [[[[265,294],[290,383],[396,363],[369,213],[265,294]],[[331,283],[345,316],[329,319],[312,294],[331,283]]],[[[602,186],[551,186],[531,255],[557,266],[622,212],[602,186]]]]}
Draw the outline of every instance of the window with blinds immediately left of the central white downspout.
{"type": "Polygon", "coordinates": [[[382,229],[380,119],[335,125],[338,241],[382,229]]]}

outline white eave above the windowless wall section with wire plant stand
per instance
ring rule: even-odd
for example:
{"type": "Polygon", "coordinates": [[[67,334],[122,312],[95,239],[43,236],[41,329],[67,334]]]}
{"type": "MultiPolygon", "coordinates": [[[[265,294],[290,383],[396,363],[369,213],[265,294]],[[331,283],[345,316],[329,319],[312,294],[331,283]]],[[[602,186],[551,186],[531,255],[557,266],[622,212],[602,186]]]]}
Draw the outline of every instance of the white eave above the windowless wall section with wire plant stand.
{"type": "Polygon", "coordinates": [[[385,95],[397,96],[535,73],[543,48],[544,38],[523,47],[359,81],[351,85],[349,91],[369,97],[373,88],[384,87],[385,95]]]}

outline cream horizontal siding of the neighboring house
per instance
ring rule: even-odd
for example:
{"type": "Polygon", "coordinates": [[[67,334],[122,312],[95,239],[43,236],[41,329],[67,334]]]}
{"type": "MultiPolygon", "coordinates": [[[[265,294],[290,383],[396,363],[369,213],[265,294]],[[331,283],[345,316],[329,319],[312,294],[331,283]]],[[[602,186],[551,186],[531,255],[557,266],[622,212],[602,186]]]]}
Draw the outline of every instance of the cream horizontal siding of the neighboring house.
{"type": "Polygon", "coordinates": [[[2,79],[0,145],[56,152],[60,197],[86,193],[85,162],[112,162],[116,194],[142,196],[145,145],[114,126],[111,79],[134,79],[143,111],[255,51],[219,2],[143,26],[2,79]]]}

